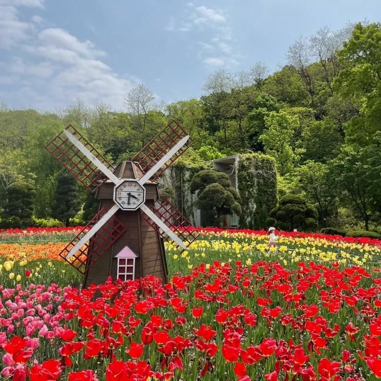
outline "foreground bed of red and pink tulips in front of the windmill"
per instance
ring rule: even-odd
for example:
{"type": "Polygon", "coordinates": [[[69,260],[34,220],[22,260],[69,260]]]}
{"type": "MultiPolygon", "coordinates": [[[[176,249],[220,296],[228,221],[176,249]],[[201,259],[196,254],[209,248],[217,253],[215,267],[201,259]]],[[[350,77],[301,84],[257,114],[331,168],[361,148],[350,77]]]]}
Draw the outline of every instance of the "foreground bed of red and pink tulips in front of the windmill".
{"type": "Polygon", "coordinates": [[[370,380],[381,377],[379,270],[214,262],[79,292],[1,288],[16,380],[370,380]],[[99,295],[95,295],[97,292],[99,295]],[[298,378],[296,378],[298,377],[298,378]]]}

